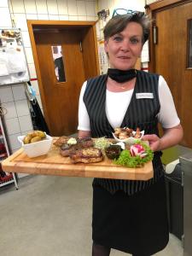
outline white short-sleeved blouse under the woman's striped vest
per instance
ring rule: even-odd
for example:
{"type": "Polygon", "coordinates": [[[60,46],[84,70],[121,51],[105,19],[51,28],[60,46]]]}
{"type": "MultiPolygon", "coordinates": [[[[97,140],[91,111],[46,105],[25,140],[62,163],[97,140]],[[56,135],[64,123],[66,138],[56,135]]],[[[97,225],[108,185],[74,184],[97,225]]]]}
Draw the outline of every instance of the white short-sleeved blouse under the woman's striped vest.
{"type": "MultiPolygon", "coordinates": [[[[84,105],[83,97],[87,82],[85,81],[79,96],[79,125],[78,130],[90,131],[90,118],[84,105]]],[[[106,93],[106,114],[113,128],[119,127],[124,119],[125,112],[131,102],[132,90],[123,92],[106,93]],[[120,104],[119,104],[120,102],[120,104]]],[[[166,80],[159,78],[160,113],[157,117],[163,128],[172,128],[180,124],[177,111],[173,102],[172,93],[166,84],[166,80]]]]}

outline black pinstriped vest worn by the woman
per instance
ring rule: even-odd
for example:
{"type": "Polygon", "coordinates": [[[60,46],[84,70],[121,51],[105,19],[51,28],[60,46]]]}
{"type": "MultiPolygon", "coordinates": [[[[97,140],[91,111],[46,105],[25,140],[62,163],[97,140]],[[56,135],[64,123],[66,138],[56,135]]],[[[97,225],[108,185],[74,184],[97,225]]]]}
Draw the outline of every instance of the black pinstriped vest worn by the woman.
{"type": "MultiPolygon", "coordinates": [[[[91,137],[113,137],[113,127],[109,124],[105,111],[107,79],[106,74],[89,79],[84,91],[84,104],[90,117],[91,137]]],[[[141,131],[145,131],[145,134],[159,134],[156,117],[160,112],[158,82],[158,75],[137,71],[137,82],[131,102],[120,127],[126,126],[134,130],[139,127],[141,131]],[[138,93],[152,93],[154,98],[137,99],[138,93]]],[[[114,102],[114,104],[119,104],[119,102],[114,102]]],[[[124,190],[128,195],[141,191],[163,175],[160,155],[161,152],[154,154],[154,177],[148,181],[94,178],[93,185],[99,184],[112,194],[119,189],[124,190]]]]}

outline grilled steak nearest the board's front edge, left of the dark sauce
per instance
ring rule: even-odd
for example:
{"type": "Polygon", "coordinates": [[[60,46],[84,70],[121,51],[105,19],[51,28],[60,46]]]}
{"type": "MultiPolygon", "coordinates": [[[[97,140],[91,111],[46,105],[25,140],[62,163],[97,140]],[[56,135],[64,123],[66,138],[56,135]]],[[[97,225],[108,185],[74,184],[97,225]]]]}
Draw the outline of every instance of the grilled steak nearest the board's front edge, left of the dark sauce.
{"type": "Polygon", "coordinates": [[[73,163],[96,163],[103,160],[102,151],[99,148],[82,148],[70,155],[73,163]]]}

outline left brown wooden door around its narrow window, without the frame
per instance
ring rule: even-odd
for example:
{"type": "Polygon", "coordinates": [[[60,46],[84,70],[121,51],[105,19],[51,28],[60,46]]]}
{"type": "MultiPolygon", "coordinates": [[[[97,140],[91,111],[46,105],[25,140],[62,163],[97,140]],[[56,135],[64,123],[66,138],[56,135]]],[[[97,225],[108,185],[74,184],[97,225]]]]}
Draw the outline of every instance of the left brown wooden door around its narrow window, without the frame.
{"type": "Polygon", "coordinates": [[[69,29],[34,33],[52,136],[69,135],[77,131],[79,91],[85,79],[79,34],[79,31],[69,29]],[[61,46],[65,82],[59,82],[55,76],[51,46],[61,46]]]}

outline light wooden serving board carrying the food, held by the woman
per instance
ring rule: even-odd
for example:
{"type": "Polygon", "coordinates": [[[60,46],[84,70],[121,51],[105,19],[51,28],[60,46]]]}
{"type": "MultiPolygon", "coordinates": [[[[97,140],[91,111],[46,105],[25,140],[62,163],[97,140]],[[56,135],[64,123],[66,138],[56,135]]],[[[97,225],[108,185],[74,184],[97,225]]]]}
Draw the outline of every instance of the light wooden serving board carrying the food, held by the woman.
{"type": "Polygon", "coordinates": [[[41,175],[58,175],[67,177],[104,177],[116,179],[148,180],[154,176],[152,162],[143,167],[127,168],[113,164],[107,157],[98,163],[72,164],[69,157],[62,157],[60,148],[52,145],[46,155],[29,158],[23,148],[17,150],[6,160],[2,167],[5,172],[19,172],[41,175]]]}

